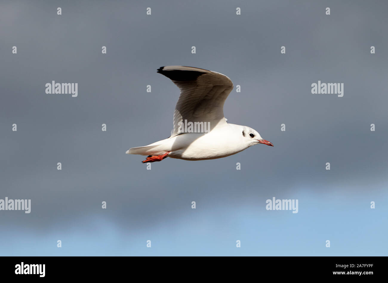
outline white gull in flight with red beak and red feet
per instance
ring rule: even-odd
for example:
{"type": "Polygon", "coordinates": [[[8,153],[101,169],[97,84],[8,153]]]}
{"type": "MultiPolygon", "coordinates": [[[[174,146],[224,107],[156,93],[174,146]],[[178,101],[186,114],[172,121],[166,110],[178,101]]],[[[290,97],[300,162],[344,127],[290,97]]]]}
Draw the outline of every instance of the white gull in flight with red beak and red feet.
{"type": "Polygon", "coordinates": [[[187,66],[160,67],[158,73],[180,89],[171,136],[144,147],[130,148],[126,154],[148,155],[142,163],[166,157],[207,160],[227,157],[259,143],[274,146],[252,128],[227,123],[223,104],[233,89],[227,76],[187,66]]]}

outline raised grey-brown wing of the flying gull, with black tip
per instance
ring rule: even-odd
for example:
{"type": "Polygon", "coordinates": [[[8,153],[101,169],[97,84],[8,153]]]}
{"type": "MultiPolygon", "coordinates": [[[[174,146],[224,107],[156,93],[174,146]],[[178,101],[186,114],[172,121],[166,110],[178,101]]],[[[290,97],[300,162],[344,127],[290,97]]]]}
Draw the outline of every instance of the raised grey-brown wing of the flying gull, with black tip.
{"type": "Polygon", "coordinates": [[[225,75],[186,66],[165,66],[158,73],[171,79],[180,89],[174,110],[171,137],[178,135],[179,122],[210,122],[210,130],[226,123],[223,104],[233,89],[232,81],[225,75]]]}

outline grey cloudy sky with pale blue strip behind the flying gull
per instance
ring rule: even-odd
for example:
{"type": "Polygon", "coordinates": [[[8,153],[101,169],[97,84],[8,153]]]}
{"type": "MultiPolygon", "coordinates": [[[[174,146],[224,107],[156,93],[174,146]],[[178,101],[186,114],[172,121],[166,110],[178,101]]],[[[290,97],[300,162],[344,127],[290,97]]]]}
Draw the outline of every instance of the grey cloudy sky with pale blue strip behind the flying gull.
{"type": "Polygon", "coordinates": [[[31,199],[31,213],[0,211],[0,255],[387,255],[387,10],[2,1],[0,199],[31,199]],[[125,151],[170,135],[179,90],[156,73],[166,65],[241,85],[225,117],[274,147],[146,170],[125,151]],[[53,80],[78,83],[78,97],[46,94],[53,80]],[[343,97],[312,94],[319,80],[343,97]],[[272,197],[298,199],[298,213],[267,211],[272,197]]]}

